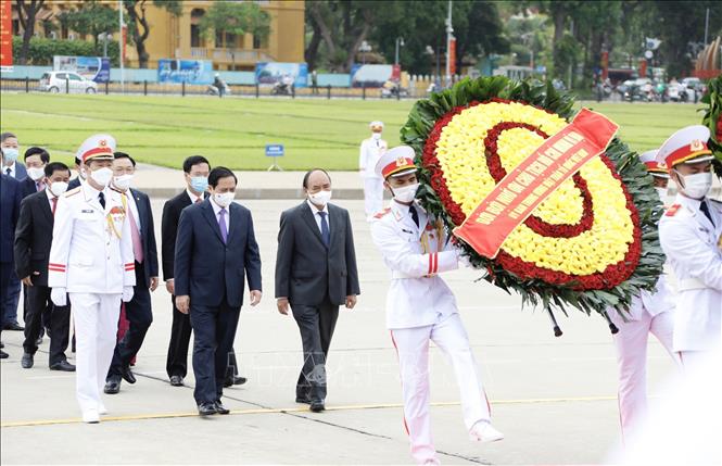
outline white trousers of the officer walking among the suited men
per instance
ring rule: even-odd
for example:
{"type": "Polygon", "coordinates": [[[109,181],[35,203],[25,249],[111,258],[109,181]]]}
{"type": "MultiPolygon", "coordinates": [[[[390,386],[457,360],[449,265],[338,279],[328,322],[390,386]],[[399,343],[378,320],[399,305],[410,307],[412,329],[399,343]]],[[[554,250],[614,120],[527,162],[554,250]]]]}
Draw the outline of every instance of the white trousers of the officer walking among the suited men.
{"type": "Polygon", "coordinates": [[[87,413],[102,405],[100,394],[115,350],[121,294],[68,294],[75,324],[76,395],[87,413]]]}

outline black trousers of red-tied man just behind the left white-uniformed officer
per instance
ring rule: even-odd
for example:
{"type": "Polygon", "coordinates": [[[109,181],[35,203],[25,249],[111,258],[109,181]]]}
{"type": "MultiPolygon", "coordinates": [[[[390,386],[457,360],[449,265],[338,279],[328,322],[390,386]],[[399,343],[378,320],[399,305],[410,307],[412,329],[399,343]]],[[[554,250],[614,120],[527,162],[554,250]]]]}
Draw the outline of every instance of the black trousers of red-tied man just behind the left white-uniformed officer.
{"type": "Polygon", "coordinates": [[[119,379],[123,367],[130,365],[130,360],[140,351],[148,328],[153,323],[153,307],[151,292],[145,286],[145,270],[142,264],[136,262],[136,285],[132,289],[132,299],[125,303],[125,318],[128,319],[128,331],[123,340],[115,345],[113,362],[107,369],[106,379],[119,379]]]}

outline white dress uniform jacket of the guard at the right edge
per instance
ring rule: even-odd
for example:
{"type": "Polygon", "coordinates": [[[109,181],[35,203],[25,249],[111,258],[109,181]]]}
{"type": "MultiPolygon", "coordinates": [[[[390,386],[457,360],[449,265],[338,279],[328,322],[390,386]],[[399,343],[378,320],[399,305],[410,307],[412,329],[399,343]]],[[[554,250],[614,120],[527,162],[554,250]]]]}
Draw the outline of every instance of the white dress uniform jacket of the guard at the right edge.
{"type": "Polygon", "coordinates": [[[677,194],[659,222],[659,239],[677,278],[674,351],[705,351],[720,342],[722,204],[677,194]],[[714,225],[700,211],[706,202],[714,225]]]}

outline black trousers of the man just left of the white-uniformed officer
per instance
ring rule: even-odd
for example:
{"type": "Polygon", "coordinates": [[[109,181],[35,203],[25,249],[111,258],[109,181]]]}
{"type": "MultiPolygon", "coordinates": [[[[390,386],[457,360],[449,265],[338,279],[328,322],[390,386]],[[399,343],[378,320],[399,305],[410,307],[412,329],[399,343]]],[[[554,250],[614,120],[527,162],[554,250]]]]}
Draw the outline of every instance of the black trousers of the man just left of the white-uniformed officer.
{"type": "Polygon", "coordinates": [[[66,361],[65,350],[67,350],[68,332],[71,331],[71,305],[56,306],[50,300],[50,288],[42,285],[26,287],[27,306],[25,315],[25,341],[23,350],[28,354],[35,354],[38,351],[36,341],[42,335],[43,315],[50,310],[50,322],[45,325],[50,327],[50,357],[49,363],[53,364],[66,361]]]}

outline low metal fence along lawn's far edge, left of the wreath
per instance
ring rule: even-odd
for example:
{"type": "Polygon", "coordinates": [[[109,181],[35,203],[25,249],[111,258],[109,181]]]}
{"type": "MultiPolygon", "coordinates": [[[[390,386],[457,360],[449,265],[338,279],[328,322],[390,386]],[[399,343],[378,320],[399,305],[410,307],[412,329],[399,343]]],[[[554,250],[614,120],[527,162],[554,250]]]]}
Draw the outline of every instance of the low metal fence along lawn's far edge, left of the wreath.
{"type": "MultiPolygon", "coordinates": [[[[243,86],[243,85],[230,85],[228,86],[230,92],[224,95],[223,97],[251,97],[251,98],[265,98],[265,97],[276,97],[276,98],[316,98],[316,99],[334,99],[334,98],[345,98],[345,99],[418,99],[425,97],[426,93],[419,95],[415,92],[414,89],[408,91],[404,90],[403,92],[391,92],[383,91],[380,88],[350,88],[350,87],[304,87],[304,88],[291,88],[289,91],[279,91],[274,87],[269,86],[243,86]]],[[[14,92],[48,92],[40,86],[40,81],[37,79],[0,79],[0,91],[14,91],[14,92]]],[[[141,96],[214,96],[220,97],[217,92],[213,92],[211,86],[208,85],[192,85],[192,84],[160,84],[151,83],[148,80],[144,81],[132,81],[125,83],[123,86],[121,83],[103,83],[98,84],[96,89],[76,89],[73,87],[73,84],[69,80],[65,80],[64,84],[61,83],[59,87],[54,87],[52,92],[56,93],[130,93],[130,95],[141,95],[141,96]]]]}

